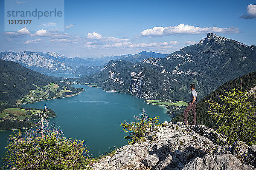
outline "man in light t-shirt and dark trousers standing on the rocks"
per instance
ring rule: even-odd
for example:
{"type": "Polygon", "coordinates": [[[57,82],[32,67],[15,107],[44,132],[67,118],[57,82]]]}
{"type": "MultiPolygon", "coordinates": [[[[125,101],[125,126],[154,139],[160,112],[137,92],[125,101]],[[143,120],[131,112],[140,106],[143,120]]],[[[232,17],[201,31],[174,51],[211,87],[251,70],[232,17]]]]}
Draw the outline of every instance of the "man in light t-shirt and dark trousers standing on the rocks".
{"type": "Polygon", "coordinates": [[[197,93],[195,91],[195,84],[191,84],[190,89],[192,90],[192,92],[190,95],[189,105],[186,107],[183,113],[183,123],[181,125],[188,125],[188,113],[190,110],[192,110],[192,115],[193,115],[192,125],[195,125],[195,122],[196,122],[195,106],[196,106],[197,93]]]}

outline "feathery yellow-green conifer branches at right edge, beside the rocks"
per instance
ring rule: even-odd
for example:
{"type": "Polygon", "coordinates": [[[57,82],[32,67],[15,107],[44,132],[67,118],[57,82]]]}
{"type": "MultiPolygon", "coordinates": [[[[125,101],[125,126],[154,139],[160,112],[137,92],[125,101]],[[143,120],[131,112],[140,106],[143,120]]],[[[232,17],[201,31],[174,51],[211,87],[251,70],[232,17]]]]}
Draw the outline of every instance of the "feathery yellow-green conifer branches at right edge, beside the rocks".
{"type": "Polygon", "coordinates": [[[250,102],[250,96],[233,89],[218,96],[222,104],[206,101],[210,105],[209,115],[217,122],[217,131],[226,136],[230,144],[236,141],[256,144],[256,107],[250,102]]]}

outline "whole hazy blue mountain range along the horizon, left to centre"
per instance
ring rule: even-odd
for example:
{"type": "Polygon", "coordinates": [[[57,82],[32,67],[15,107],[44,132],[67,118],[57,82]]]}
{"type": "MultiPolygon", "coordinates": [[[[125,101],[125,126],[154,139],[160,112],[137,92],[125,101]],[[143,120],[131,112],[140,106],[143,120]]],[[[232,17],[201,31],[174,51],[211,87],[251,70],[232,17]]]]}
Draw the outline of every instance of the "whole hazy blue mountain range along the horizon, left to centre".
{"type": "Polygon", "coordinates": [[[101,68],[109,62],[109,60],[128,60],[131,62],[140,62],[143,59],[150,57],[164,57],[166,54],[142,51],[135,55],[121,55],[121,56],[105,56],[100,58],[86,58],[79,57],[68,58],[56,52],[33,52],[23,51],[15,52],[1,52],[0,59],[18,62],[26,68],[38,71],[41,73],[72,73],[81,75],[90,75],[98,72],[101,68]],[[82,66],[82,67],[81,67],[82,66]]]}

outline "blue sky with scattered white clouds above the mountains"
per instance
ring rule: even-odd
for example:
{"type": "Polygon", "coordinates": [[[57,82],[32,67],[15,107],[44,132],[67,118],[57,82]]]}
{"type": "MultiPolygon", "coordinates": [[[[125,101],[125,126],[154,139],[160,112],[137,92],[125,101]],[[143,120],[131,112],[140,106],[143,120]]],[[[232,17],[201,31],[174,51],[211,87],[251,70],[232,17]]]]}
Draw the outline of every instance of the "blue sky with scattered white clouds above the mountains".
{"type": "Polygon", "coordinates": [[[0,13],[0,52],[71,58],[171,54],[208,32],[256,45],[256,0],[0,0],[0,13]],[[35,9],[35,17],[21,15],[35,9]]]}

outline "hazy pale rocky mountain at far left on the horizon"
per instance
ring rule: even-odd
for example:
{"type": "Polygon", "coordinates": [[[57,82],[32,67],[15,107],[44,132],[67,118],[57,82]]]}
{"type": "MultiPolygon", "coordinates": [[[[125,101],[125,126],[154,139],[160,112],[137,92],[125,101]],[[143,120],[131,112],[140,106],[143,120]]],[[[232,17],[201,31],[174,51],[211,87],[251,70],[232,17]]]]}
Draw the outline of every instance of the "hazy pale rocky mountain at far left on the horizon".
{"type": "Polygon", "coordinates": [[[18,54],[15,52],[1,52],[0,59],[18,62],[26,68],[41,73],[72,73],[81,65],[96,66],[93,62],[86,61],[79,57],[68,58],[55,52],[42,53],[24,51],[18,54]]]}

